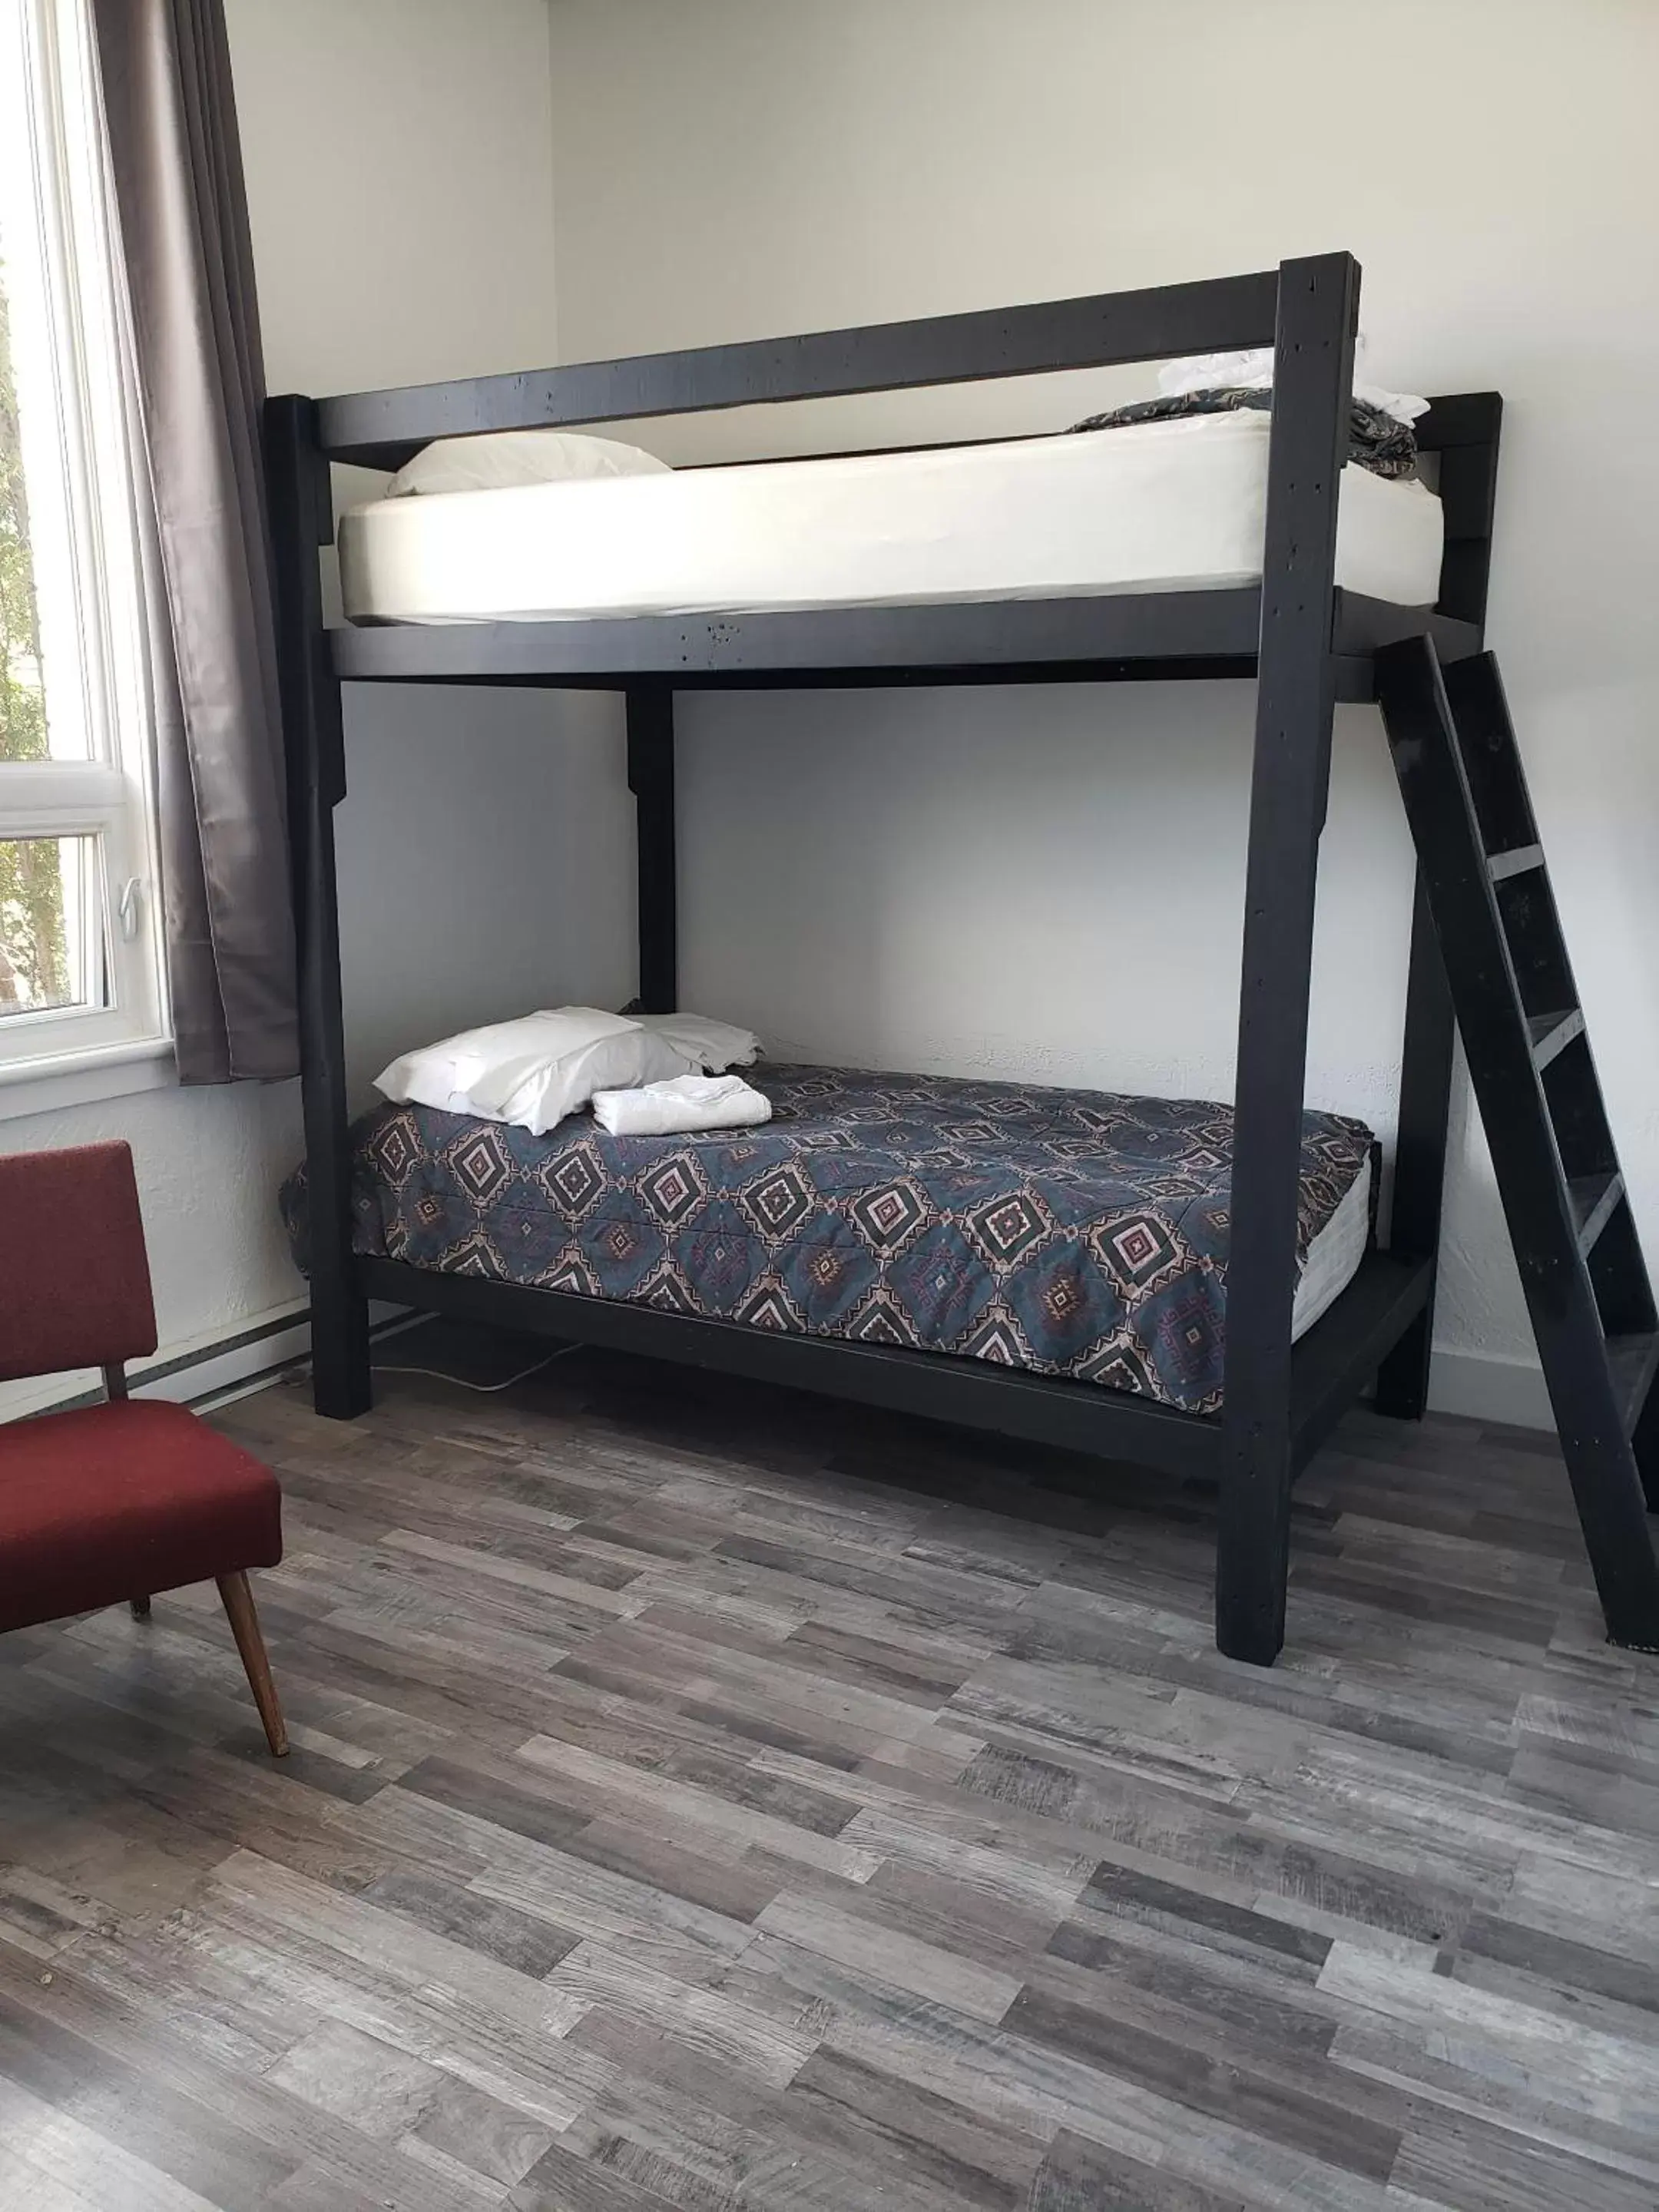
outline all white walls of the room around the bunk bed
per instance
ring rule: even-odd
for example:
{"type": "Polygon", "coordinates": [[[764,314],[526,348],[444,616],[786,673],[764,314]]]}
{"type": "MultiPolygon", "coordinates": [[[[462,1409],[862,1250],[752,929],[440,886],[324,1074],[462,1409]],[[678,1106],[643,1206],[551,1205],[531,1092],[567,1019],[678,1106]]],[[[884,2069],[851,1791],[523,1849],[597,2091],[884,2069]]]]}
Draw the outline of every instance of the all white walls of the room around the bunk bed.
{"type": "MultiPolygon", "coordinates": [[[[1380,376],[1509,398],[1491,630],[1637,1210],[1659,1221],[1659,9],[1396,0],[1380,40],[1358,0],[551,0],[551,15],[544,0],[228,0],[228,15],[272,389],[1349,246],[1380,376]]],[[[902,422],[1071,411],[1026,387],[929,398],[902,422]]],[[[757,447],[787,434],[714,429],[757,447]]],[[[823,418],[803,431],[838,436],[823,418]]],[[[1248,717],[1243,688],[1197,686],[690,697],[686,995],[805,1053],[1223,1093],[1248,717]]],[[[416,1035],[626,995],[608,701],[363,690],[347,765],[358,1084],[416,1035]]],[[[1347,710],[1310,1095],[1380,1128],[1407,885],[1380,734],[1347,710]]],[[[100,1135],[135,1144],[164,1347],[299,1298],[272,1210],[299,1152],[292,1086],[0,1124],[7,1148],[100,1135]]],[[[1440,1343],[1444,1402],[1540,1409],[1478,1137],[1451,1188],[1440,1343]]]]}

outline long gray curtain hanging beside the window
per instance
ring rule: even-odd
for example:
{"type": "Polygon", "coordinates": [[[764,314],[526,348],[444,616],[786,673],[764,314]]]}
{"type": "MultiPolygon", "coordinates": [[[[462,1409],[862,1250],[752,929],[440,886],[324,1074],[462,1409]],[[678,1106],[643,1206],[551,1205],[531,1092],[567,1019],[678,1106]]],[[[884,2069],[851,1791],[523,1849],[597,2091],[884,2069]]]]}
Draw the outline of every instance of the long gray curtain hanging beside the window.
{"type": "Polygon", "coordinates": [[[221,0],[91,0],[126,263],[179,1077],[299,1071],[248,199],[221,0]]]}

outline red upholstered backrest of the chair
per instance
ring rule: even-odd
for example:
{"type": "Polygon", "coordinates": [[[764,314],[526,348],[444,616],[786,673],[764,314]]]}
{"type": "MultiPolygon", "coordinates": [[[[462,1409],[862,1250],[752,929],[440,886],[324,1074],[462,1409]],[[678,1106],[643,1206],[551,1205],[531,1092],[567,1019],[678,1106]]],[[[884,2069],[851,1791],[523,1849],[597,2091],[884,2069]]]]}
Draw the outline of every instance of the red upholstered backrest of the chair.
{"type": "Polygon", "coordinates": [[[0,1380],[146,1352],[155,1301],[131,1148],[0,1155],[0,1380]]]}

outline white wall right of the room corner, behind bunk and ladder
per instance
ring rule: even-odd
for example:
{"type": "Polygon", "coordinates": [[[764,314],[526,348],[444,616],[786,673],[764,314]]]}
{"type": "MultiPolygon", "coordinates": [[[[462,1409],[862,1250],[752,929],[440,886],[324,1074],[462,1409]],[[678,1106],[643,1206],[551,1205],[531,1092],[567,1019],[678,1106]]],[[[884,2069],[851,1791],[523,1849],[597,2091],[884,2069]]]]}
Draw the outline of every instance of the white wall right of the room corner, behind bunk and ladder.
{"type": "MultiPolygon", "coordinates": [[[[553,0],[551,20],[566,361],[1345,246],[1383,380],[1504,392],[1491,639],[1659,1225],[1659,9],[553,0]]],[[[692,1002],[816,1055],[1228,1091],[1245,688],[695,697],[681,728],[692,1002]]],[[[1409,865],[1380,728],[1343,710],[1310,1097],[1383,1130],[1409,865]]],[[[1542,1413],[1478,1135],[1438,1336],[1442,1402],[1542,1413]]]]}

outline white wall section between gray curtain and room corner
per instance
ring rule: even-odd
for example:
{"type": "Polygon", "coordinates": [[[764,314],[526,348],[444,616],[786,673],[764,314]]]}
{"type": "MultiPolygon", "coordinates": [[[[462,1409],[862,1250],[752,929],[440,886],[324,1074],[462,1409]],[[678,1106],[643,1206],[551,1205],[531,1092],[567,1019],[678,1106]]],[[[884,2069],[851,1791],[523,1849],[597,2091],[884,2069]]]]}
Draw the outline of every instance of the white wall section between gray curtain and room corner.
{"type": "MultiPolygon", "coordinates": [[[[544,0],[230,0],[228,15],[270,389],[555,361],[544,0]]],[[[602,860],[626,849],[630,801],[606,701],[349,686],[345,768],[358,1099],[407,1044],[628,998],[633,885],[602,860]]]]}

